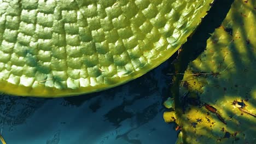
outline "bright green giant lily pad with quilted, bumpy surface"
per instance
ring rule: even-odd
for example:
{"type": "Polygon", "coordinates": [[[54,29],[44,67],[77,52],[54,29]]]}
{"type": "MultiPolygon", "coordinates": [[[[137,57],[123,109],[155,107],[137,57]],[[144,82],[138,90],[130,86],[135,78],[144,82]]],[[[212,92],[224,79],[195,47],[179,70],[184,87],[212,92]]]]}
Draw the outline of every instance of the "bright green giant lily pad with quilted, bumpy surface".
{"type": "Polygon", "coordinates": [[[212,2],[1,1],[0,91],[62,97],[136,79],[187,41],[212,2]]]}

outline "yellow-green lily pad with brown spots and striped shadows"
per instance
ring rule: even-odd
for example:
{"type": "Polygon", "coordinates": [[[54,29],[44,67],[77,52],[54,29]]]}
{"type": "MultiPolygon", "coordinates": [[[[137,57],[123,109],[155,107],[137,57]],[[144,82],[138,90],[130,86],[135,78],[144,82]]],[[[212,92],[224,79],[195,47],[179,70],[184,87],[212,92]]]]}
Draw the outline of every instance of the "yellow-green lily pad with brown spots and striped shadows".
{"type": "Polygon", "coordinates": [[[177,143],[255,143],[255,5],[235,0],[206,50],[185,71],[182,106],[175,107],[182,127],[177,143]]]}

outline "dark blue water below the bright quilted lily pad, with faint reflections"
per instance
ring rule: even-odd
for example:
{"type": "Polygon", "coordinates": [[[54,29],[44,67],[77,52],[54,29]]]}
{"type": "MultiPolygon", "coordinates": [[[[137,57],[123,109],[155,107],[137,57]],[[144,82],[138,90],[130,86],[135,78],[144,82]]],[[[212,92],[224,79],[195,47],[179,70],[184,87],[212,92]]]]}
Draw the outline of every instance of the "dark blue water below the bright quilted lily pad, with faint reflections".
{"type": "Polygon", "coordinates": [[[175,143],[164,122],[172,58],[146,75],[107,91],[68,98],[0,96],[5,141],[20,144],[175,143]]]}

